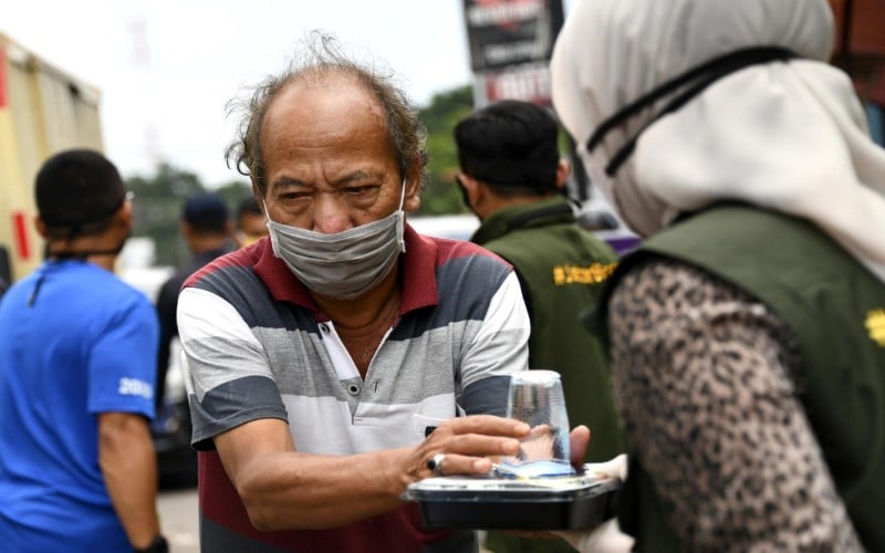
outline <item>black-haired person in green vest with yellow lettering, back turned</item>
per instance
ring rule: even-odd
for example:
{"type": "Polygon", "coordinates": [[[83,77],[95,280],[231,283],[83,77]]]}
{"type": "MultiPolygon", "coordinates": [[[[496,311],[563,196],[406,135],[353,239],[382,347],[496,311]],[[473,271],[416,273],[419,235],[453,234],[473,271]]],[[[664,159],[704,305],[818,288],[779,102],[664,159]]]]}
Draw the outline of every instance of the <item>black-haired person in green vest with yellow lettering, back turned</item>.
{"type": "MultiPolygon", "coordinates": [[[[531,319],[529,367],[562,376],[569,420],[590,427],[585,460],[622,452],[602,344],[581,324],[617,263],[614,250],[581,229],[564,195],[569,163],[559,124],[534,104],[506,100],[476,109],[454,131],[456,180],[481,226],[471,237],[513,265],[531,319]],[[587,398],[587,390],[592,397],[587,398]]],[[[569,551],[560,540],[490,532],[494,552],[569,551]]]]}

